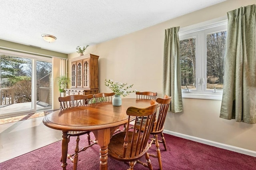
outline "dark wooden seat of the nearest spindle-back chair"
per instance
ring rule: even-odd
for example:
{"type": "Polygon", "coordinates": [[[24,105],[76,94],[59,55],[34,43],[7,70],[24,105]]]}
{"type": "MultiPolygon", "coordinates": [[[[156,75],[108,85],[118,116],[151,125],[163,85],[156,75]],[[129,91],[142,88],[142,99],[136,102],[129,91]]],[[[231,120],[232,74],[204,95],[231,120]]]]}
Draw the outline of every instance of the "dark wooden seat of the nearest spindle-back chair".
{"type": "MultiPolygon", "coordinates": [[[[126,132],[120,132],[115,134],[114,136],[112,136],[112,138],[110,139],[110,143],[108,144],[108,154],[116,159],[116,160],[120,160],[123,162],[130,162],[130,161],[135,161],[138,160],[139,158],[141,158],[142,156],[144,156],[144,154],[147,152],[147,150],[143,150],[140,154],[134,156],[131,155],[130,156],[130,152],[126,152],[126,156],[125,158],[123,157],[123,153],[124,153],[124,137],[125,137],[126,132]],[[132,159],[131,159],[132,157],[132,159]]],[[[127,150],[130,150],[131,148],[131,140],[132,140],[132,132],[128,132],[128,146],[127,146],[127,150]]],[[[135,134],[135,138],[137,138],[138,133],[135,134]]],[[[138,146],[139,148],[140,146],[138,146]]],[[[148,148],[148,144],[147,147],[148,148]]],[[[136,148],[133,148],[133,150],[135,151],[136,148]]],[[[135,152],[132,152],[135,153],[135,152]]]]}

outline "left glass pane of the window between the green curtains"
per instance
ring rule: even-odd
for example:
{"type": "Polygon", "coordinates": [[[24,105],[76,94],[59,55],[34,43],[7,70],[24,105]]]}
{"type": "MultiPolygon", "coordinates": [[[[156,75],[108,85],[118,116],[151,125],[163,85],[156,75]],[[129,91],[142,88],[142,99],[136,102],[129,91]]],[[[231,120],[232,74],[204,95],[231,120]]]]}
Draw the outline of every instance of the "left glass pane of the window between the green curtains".
{"type": "Polygon", "coordinates": [[[181,88],[196,89],[196,38],[180,40],[181,88]]]}

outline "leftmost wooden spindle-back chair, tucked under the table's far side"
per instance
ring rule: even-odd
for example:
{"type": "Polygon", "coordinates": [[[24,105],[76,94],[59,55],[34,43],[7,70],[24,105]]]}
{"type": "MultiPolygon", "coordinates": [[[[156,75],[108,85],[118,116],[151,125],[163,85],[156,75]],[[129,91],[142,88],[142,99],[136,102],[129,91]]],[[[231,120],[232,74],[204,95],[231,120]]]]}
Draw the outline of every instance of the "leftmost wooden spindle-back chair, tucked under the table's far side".
{"type": "MultiPolygon", "coordinates": [[[[90,100],[93,99],[93,95],[70,95],[66,97],[59,97],[60,101],[60,107],[61,109],[66,109],[70,107],[78,107],[81,105],[88,105],[90,103],[90,100]]],[[[73,163],[73,169],[76,170],[77,167],[77,162],[78,162],[78,153],[86,150],[90,146],[94,145],[97,143],[97,141],[90,140],[90,131],[68,131],[68,142],[70,141],[70,136],[76,136],[76,149],[74,154],[68,154],[67,158],[70,159],[73,163]],[[88,139],[88,146],[83,147],[82,149],[79,150],[79,140],[80,140],[80,135],[87,134],[87,139],[88,139]],[[92,143],[91,143],[92,142],[92,143]],[[74,158],[72,158],[74,156],[74,158]]],[[[60,159],[62,162],[62,157],[60,159]]]]}

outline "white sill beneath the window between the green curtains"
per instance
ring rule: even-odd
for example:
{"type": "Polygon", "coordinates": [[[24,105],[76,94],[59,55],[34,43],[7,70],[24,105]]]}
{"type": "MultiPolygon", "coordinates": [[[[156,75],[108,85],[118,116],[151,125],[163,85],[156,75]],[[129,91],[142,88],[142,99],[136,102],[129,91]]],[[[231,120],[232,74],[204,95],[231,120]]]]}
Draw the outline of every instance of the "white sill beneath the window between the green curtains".
{"type": "Polygon", "coordinates": [[[222,100],[222,93],[190,93],[182,92],[182,98],[222,100]]]}

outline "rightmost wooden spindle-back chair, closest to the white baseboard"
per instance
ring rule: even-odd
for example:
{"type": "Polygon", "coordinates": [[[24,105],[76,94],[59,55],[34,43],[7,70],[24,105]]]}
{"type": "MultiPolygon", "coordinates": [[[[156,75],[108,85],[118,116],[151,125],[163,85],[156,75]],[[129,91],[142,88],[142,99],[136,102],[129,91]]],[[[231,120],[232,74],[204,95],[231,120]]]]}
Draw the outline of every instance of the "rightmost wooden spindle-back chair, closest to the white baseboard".
{"type": "MultiPolygon", "coordinates": [[[[150,132],[150,134],[154,135],[154,138],[151,138],[151,140],[152,140],[151,143],[156,144],[157,155],[156,154],[149,154],[149,155],[152,157],[158,158],[160,170],[162,170],[162,160],[161,160],[161,152],[160,152],[160,148],[159,148],[159,142],[163,143],[164,150],[167,150],[163,130],[164,130],[164,121],[166,119],[166,114],[168,111],[168,107],[171,103],[171,100],[172,100],[172,97],[169,97],[167,95],[164,95],[164,99],[161,99],[161,98],[156,99],[156,102],[160,104],[160,107],[159,107],[159,112],[157,112],[156,119],[153,123],[153,127],[150,132]],[[161,135],[162,140],[158,140],[158,134],[161,135]]],[[[144,120],[143,120],[143,122],[144,122],[143,125],[145,125],[146,122],[144,120]]],[[[136,125],[135,128],[138,131],[140,130],[140,123],[141,123],[141,121],[137,121],[137,123],[135,124],[136,125]]],[[[143,130],[144,130],[144,128],[142,128],[142,131],[143,130]]],[[[142,162],[138,161],[138,163],[142,163],[142,162]]]]}

